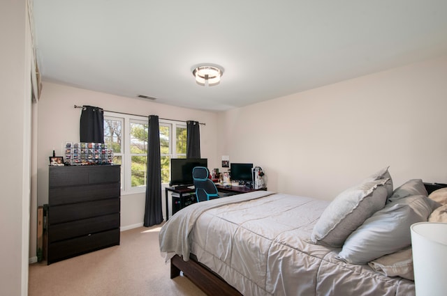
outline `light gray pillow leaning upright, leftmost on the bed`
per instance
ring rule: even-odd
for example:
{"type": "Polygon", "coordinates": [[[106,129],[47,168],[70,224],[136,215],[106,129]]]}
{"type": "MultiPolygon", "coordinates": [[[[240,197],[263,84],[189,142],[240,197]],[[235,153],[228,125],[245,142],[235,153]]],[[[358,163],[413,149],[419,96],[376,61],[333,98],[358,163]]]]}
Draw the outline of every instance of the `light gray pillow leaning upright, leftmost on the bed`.
{"type": "Polygon", "coordinates": [[[388,194],[389,178],[366,179],[360,185],[339,194],[325,208],[312,231],[311,241],[332,247],[342,247],[346,237],[362,225],[365,219],[383,208],[388,194]]]}

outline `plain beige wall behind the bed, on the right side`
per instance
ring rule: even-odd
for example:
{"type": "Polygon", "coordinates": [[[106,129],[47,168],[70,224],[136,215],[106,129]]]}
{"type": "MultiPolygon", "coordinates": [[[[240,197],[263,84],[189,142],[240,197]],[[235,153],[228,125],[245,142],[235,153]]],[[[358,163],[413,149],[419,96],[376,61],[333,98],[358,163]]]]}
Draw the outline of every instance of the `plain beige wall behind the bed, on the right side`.
{"type": "Polygon", "coordinates": [[[268,189],[331,200],[384,166],[447,182],[447,56],[219,114],[219,155],[268,189]]]}

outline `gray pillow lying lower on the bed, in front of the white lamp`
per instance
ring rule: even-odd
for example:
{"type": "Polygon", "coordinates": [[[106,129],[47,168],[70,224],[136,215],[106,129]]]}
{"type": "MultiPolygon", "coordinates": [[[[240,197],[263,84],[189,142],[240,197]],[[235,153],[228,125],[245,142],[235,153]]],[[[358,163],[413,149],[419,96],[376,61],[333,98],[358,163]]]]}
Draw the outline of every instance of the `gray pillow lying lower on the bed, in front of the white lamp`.
{"type": "Polygon", "coordinates": [[[411,224],[427,221],[431,212],[430,200],[424,195],[390,202],[349,235],[337,258],[347,263],[366,264],[408,247],[411,224]]]}

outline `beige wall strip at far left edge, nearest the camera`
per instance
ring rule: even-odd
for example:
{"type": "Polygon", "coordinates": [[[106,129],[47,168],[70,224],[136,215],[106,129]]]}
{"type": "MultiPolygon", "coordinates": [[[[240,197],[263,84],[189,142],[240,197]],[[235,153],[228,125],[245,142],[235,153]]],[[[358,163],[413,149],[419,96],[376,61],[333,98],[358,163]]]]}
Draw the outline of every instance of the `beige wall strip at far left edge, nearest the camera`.
{"type": "Polygon", "coordinates": [[[31,158],[31,35],[26,1],[0,4],[0,295],[27,295],[31,158]]]}

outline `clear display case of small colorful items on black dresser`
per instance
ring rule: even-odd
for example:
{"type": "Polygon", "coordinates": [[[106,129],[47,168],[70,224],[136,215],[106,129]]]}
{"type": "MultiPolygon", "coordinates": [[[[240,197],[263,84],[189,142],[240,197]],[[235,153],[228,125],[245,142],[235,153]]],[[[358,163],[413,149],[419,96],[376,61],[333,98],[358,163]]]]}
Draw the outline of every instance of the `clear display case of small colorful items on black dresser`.
{"type": "Polygon", "coordinates": [[[66,142],[65,164],[112,164],[113,152],[105,143],[66,142]]]}

